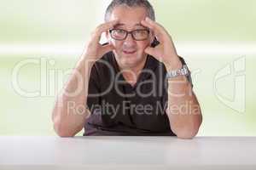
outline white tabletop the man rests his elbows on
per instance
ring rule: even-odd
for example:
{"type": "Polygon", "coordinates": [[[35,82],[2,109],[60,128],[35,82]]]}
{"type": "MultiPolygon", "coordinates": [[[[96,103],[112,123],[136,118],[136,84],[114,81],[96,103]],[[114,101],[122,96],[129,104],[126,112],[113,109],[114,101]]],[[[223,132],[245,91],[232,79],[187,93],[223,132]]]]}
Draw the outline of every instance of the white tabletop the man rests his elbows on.
{"type": "Polygon", "coordinates": [[[256,169],[256,137],[0,137],[0,169],[256,169]]]}

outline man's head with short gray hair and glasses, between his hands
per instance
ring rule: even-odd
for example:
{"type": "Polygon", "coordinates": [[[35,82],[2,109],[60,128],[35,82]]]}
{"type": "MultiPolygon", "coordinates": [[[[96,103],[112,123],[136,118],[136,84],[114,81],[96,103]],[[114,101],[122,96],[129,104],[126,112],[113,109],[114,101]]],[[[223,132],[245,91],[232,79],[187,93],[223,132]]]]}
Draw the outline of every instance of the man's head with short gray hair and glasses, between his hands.
{"type": "Polygon", "coordinates": [[[154,40],[152,32],[141,25],[146,17],[155,20],[154,8],[147,0],[113,0],[106,10],[106,22],[119,20],[119,24],[114,27],[116,30],[107,35],[108,42],[114,46],[116,59],[125,67],[142,63],[147,56],[144,49],[154,40]],[[127,35],[127,31],[133,33],[127,35]],[[124,35],[124,38],[118,38],[119,35],[124,35]]]}

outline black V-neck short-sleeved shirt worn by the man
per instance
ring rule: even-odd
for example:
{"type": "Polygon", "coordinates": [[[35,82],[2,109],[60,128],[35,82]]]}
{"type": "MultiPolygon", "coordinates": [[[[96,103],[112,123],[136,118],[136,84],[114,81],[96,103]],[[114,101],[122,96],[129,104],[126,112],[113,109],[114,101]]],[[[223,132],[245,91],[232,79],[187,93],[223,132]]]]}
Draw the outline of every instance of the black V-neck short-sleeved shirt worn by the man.
{"type": "Polygon", "coordinates": [[[137,83],[131,86],[113,52],[105,54],[91,70],[87,98],[91,115],[84,135],[175,135],[165,111],[167,86],[166,67],[154,57],[147,56],[137,83]]]}

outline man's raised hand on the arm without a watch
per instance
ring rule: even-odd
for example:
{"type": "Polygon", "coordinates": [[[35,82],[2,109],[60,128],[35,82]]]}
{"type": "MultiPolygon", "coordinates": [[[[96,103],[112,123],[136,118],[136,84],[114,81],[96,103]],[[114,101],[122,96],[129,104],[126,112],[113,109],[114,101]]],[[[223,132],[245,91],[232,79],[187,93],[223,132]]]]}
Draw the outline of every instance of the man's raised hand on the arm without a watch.
{"type": "Polygon", "coordinates": [[[113,46],[111,44],[102,46],[102,44],[100,44],[100,40],[102,37],[102,33],[108,31],[117,23],[118,20],[113,20],[110,22],[106,22],[100,26],[97,26],[96,30],[91,34],[90,41],[84,50],[83,56],[89,59],[97,60],[100,59],[104,54],[113,50],[113,46]]]}

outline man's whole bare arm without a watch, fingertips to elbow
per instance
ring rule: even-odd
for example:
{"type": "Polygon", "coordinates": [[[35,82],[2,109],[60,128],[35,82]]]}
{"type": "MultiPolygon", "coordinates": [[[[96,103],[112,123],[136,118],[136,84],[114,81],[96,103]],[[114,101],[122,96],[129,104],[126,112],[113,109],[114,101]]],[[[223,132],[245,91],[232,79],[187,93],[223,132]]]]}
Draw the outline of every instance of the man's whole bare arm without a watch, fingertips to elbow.
{"type": "Polygon", "coordinates": [[[56,99],[52,121],[55,132],[61,137],[73,137],[79,133],[86,117],[90,115],[90,111],[86,109],[90,71],[96,60],[113,50],[112,45],[102,46],[99,41],[102,33],[117,22],[118,20],[113,20],[96,28],[67,85],[56,99]]]}

